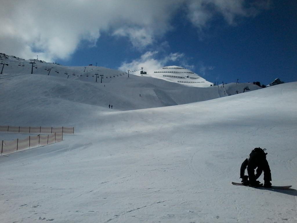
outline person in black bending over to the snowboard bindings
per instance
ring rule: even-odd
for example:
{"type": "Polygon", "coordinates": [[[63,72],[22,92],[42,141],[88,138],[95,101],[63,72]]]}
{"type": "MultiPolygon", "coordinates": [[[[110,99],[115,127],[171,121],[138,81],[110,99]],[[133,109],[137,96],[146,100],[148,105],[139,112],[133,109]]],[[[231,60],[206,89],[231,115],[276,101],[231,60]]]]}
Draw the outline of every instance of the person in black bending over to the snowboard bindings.
{"type": "Polygon", "coordinates": [[[245,159],[241,164],[240,178],[242,179],[241,182],[243,185],[252,187],[262,186],[263,184],[257,181],[257,179],[264,171],[264,187],[271,187],[271,172],[268,161],[266,160],[267,153],[264,152],[265,150],[266,149],[261,149],[260,147],[255,148],[249,154],[249,158],[245,159]],[[248,176],[244,175],[245,169],[247,169],[248,176]]]}

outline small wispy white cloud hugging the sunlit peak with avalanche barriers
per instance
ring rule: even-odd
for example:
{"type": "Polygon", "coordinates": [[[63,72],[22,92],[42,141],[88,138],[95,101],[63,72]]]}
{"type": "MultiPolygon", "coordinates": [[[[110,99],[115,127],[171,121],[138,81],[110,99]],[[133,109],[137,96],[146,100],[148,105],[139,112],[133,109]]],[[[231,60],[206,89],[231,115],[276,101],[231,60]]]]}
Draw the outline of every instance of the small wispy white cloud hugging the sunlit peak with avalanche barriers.
{"type": "Polygon", "coordinates": [[[139,59],[132,60],[132,62],[122,63],[119,70],[138,70],[140,67],[143,67],[148,74],[151,74],[154,70],[168,65],[168,62],[176,62],[184,56],[184,54],[180,53],[170,53],[161,59],[156,59],[158,53],[158,51],[148,51],[139,59]]]}

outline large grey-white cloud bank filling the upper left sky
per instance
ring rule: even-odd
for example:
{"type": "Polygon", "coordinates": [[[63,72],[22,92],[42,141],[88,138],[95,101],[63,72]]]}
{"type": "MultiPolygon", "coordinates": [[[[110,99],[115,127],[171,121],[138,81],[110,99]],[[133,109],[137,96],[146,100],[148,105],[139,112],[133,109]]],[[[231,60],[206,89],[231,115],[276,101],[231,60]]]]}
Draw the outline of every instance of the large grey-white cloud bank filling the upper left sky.
{"type": "MultiPolygon", "coordinates": [[[[266,1],[260,1],[266,2],[266,1]]],[[[216,13],[227,23],[257,14],[267,4],[246,7],[246,0],[22,0],[2,1],[0,52],[42,60],[67,59],[82,40],[94,46],[101,32],[127,37],[143,50],[174,28],[176,13],[185,12],[198,29],[216,13]],[[184,7],[186,6],[186,7],[184,7]],[[185,8],[188,10],[183,11],[185,8]]]]}

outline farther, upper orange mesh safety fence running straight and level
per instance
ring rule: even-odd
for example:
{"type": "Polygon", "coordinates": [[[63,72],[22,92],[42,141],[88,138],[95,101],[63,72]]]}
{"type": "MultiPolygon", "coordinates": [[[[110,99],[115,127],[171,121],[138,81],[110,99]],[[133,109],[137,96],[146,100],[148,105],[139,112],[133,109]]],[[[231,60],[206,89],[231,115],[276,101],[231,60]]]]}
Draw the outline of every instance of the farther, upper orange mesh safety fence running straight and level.
{"type": "Polygon", "coordinates": [[[41,133],[41,134],[74,134],[74,127],[23,127],[23,126],[10,126],[0,125],[0,132],[13,132],[13,133],[41,133]]]}

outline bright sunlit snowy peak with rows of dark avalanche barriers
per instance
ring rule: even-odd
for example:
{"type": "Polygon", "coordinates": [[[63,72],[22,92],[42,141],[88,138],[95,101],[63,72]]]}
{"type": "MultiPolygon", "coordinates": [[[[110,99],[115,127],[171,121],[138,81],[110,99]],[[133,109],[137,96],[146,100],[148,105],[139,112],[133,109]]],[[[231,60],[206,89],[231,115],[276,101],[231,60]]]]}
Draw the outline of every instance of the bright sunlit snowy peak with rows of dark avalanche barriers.
{"type": "Polygon", "coordinates": [[[210,87],[214,85],[191,70],[178,66],[162,67],[155,70],[151,76],[191,87],[210,87]]]}

